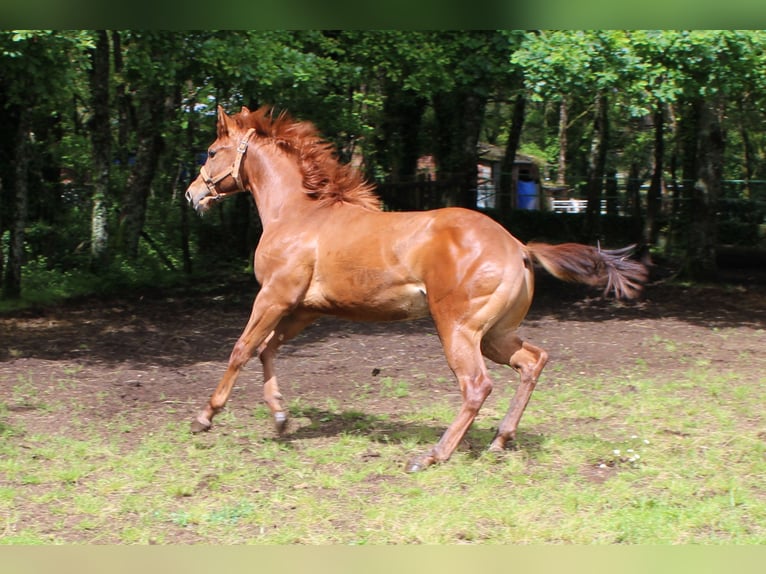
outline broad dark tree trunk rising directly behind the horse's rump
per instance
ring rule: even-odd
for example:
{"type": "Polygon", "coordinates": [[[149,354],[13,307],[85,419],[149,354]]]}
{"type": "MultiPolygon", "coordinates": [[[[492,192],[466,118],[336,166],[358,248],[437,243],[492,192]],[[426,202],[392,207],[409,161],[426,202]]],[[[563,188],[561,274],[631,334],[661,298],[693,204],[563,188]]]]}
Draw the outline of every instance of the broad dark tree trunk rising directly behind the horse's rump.
{"type": "Polygon", "coordinates": [[[479,132],[487,100],[469,91],[434,96],[438,178],[450,184],[444,205],[476,208],[479,132]]]}

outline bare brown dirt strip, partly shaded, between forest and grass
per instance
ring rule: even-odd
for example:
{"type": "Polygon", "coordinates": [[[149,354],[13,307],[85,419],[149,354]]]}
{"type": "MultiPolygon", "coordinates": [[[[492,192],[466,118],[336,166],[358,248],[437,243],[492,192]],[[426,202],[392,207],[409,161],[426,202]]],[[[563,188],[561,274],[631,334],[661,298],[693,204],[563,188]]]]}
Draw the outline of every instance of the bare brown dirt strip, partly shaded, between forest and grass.
{"type": "MultiPolygon", "coordinates": [[[[661,379],[688,364],[736,369],[756,381],[766,348],[766,274],[733,276],[727,287],[683,288],[656,283],[639,303],[622,305],[538,273],[538,293],[520,334],[551,356],[543,374],[614,372],[644,361],[661,379]]],[[[189,297],[180,293],[86,300],[0,317],[0,405],[29,432],[66,429],[68,411],[41,410],[44,394],[73,400],[88,417],[138,417],[148,430],[175,416],[191,419],[225,369],[248,317],[254,282],[189,297]]],[[[381,393],[360,402],[360,387],[410,381],[428,401],[459,401],[430,321],[354,324],[327,319],[283,348],[280,386],[288,401],[321,409],[327,400],[370,415],[396,408],[381,393]],[[357,397],[356,399],[354,397],[357,397]],[[356,401],[356,402],[355,402],[356,401]]],[[[492,366],[498,386],[516,376],[492,366]]],[[[240,378],[228,408],[251,416],[260,403],[260,365],[240,378]]],[[[392,393],[395,389],[392,388],[392,393]]],[[[500,393],[494,393],[490,400],[500,393]]],[[[505,409],[505,406],[498,407],[505,409]]],[[[523,421],[522,421],[523,425],[523,421]]]]}

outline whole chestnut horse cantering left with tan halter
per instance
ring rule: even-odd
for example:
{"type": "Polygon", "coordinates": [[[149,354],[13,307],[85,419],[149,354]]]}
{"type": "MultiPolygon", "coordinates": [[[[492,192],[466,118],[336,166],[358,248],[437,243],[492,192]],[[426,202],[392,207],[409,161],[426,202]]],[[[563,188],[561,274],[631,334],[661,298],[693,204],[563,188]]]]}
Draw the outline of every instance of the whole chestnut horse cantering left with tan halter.
{"type": "Polygon", "coordinates": [[[548,360],[516,328],[534,291],[534,263],[566,281],[633,298],[647,273],[630,248],[604,251],[567,243],[524,245],[481,213],[460,208],[385,212],[371,185],[341,164],[309,122],[263,107],[228,116],[218,108],[217,138],[186,191],[198,212],[231,194],[252,194],[263,224],[255,252],[261,289],[228,368],[192,423],[207,430],[245,363],[263,364],[263,396],[276,424],[287,414],[277,386],[277,349],[322,315],[392,321],[431,316],[462,406],[439,442],[409,472],[450,458],[492,391],[483,357],[510,365],[521,382],[490,449],[515,438],[548,360]],[[482,357],[483,356],[483,357],[482,357]]]}

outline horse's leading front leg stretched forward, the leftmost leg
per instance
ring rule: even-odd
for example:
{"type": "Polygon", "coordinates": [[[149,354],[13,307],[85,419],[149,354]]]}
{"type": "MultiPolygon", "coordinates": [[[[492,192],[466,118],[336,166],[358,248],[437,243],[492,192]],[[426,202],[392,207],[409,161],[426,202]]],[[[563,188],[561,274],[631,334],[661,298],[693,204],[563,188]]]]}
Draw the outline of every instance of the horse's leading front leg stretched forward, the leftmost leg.
{"type": "Polygon", "coordinates": [[[213,391],[207,405],[192,421],[192,432],[197,433],[210,428],[213,417],[223,409],[229,399],[242,367],[253,355],[267,348],[274,339],[274,330],[279,325],[280,320],[289,312],[291,305],[283,297],[271,295],[273,292],[273,289],[264,289],[255,298],[250,320],[234,345],[226,372],[213,391]]]}

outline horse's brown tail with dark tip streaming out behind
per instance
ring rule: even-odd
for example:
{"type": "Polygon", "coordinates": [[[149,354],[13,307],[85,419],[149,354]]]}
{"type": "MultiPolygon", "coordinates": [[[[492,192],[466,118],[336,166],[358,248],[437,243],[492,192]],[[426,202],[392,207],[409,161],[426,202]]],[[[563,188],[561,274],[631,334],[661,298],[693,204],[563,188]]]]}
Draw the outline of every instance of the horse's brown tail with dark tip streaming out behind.
{"type": "Polygon", "coordinates": [[[643,263],[629,259],[635,245],[603,250],[580,243],[529,243],[527,253],[546,271],[562,281],[603,287],[619,299],[634,299],[643,288],[649,272],[643,263]]]}

